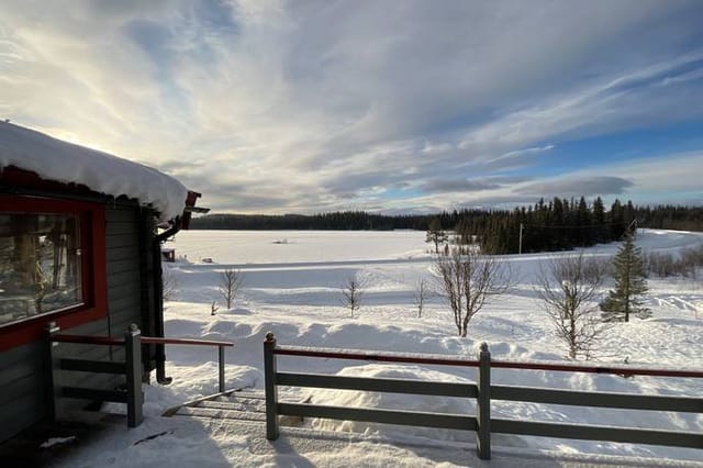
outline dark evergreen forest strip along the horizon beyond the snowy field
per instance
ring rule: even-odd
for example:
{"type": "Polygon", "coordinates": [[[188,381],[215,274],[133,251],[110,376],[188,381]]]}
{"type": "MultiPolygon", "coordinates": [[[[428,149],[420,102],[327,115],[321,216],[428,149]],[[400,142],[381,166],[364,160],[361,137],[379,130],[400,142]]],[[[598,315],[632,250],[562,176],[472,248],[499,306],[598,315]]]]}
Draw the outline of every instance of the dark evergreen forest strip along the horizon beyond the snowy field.
{"type": "MultiPolygon", "coordinates": [[[[554,198],[514,210],[460,210],[437,214],[383,215],[338,211],[313,215],[209,214],[191,221],[193,230],[421,230],[433,220],[455,231],[459,242],[478,242],[486,252],[545,252],[620,241],[631,227],[703,231],[703,208],[634,207],[615,200],[609,210],[592,202],[554,198]]],[[[435,223],[436,224],[436,223],[435,223]]]]}

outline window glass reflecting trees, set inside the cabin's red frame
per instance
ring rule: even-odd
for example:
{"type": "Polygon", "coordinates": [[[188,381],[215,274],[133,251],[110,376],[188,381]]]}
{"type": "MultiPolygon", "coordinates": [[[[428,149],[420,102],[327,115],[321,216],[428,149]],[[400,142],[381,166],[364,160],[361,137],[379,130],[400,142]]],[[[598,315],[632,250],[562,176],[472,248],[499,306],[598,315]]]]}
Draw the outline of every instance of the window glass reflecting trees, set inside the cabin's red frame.
{"type": "Polygon", "coordinates": [[[82,303],[79,222],[0,214],[0,325],[82,303]]]}

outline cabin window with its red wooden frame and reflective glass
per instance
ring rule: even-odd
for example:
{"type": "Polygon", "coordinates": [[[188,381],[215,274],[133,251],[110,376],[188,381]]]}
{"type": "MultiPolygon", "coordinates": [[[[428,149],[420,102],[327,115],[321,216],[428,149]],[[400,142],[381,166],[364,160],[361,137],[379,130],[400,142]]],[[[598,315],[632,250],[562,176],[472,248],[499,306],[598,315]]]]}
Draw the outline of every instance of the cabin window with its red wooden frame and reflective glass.
{"type": "Polygon", "coordinates": [[[107,315],[104,208],[0,196],[0,348],[107,315]]]}

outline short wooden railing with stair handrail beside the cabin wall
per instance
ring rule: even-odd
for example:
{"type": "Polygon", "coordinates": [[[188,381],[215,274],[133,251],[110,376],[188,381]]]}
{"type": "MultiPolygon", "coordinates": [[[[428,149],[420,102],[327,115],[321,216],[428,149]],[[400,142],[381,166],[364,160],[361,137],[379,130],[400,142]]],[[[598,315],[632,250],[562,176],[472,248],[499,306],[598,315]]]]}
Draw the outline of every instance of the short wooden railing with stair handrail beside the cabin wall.
{"type": "Polygon", "coordinates": [[[215,342],[209,339],[186,339],[186,338],[161,338],[153,336],[142,336],[140,328],[132,324],[124,333],[124,338],[111,336],[89,336],[58,334],[58,327],[49,324],[48,334],[48,358],[49,368],[49,390],[52,392],[48,401],[52,404],[53,416],[56,417],[55,398],[78,398],[98,401],[112,401],[126,403],[127,426],[136,427],[142,424],[144,414],[144,393],[142,392],[142,345],[197,345],[216,346],[219,359],[219,389],[225,391],[224,375],[224,348],[234,346],[228,342],[215,342]],[[53,348],[59,343],[75,343],[82,345],[124,346],[125,358],[123,363],[88,360],[75,358],[57,358],[53,348]],[[125,390],[104,390],[85,387],[58,387],[55,386],[55,370],[72,370],[81,372],[115,374],[125,376],[125,390]]]}

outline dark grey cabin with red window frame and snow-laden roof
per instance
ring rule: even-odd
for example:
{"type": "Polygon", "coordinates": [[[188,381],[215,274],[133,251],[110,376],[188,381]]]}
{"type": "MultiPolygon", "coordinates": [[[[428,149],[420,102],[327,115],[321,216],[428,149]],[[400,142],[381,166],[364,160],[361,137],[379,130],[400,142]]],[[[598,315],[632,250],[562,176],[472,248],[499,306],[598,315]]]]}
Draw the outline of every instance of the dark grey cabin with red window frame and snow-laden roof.
{"type": "MultiPolygon", "coordinates": [[[[0,122],[0,442],[92,401],[54,401],[47,349],[124,360],[124,347],[48,341],[62,333],[164,336],[161,243],[188,227],[199,193],[153,168],[0,122]]],[[[143,380],[164,346],[142,348],[143,380]]],[[[63,385],[114,389],[124,376],[65,372],[63,385]]]]}

